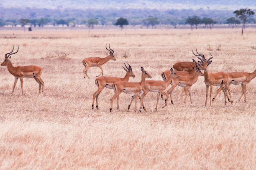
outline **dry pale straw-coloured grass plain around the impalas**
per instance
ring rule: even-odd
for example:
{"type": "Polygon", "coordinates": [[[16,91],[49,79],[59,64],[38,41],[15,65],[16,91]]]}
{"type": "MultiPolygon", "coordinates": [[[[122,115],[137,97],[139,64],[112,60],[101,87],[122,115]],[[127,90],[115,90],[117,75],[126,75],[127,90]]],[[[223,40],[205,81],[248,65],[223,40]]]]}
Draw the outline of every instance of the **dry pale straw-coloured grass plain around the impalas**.
{"type": "MultiPolygon", "coordinates": [[[[120,111],[105,88],[99,95],[99,109],[92,110],[99,67],[89,68],[84,78],[82,60],[106,57],[110,44],[116,61],[102,65],[105,76],[124,77],[129,63],[135,78],[140,68],[162,80],[161,72],[178,61],[198,60],[197,49],[206,58],[213,55],[209,72],[253,72],[256,69],[256,29],[137,29],[137,30],[0,30],[0,55],[15,50],[12,63],[38,65],[45,82],[38,95],[38,83],[20,80],[11,95],[14,76],[0,67],[0,169],[256,169],[256,78],[246,86],[238,102],[241,85],[230,85],[234,107],[224,105],[220,92],[209,108],[205,103],[204,77],[191,87],[184,104],[182,87],[172,92],[164,105],[156,92],[143,102],[148,112],[127,112],[132,94],[122,93],[120,111]]],[[[146,79],[149,80],[149,79],[146,79]]],[[[169,90],[167,87],[166,91],[169,90]]],[[[212,97],[218,87],[213,87],[212,97]]],[[[210,90],[209,90],[210,91],[210,90]]],[[[139,108],[139,100],[137,101],[139,108]]]]}

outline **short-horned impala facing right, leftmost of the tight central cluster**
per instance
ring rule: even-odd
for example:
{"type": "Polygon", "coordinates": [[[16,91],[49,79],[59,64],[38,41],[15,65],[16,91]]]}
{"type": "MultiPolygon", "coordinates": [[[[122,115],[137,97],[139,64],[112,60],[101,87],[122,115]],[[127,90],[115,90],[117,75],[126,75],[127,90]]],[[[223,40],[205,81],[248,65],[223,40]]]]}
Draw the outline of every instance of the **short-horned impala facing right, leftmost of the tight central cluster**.
{"type": "MultiPolygon", "coordinates": [[[[133,70],[131,68],[131,65],[129,65],[129,67],[127,67],[125,65],[125,67],[123,67],[123,69],[126,71],[126,74],[125,74],[125,77],[123,77],[123,78],[120,78],[120,77],[105,77],[105,76],[96,78],[95,84],[97,85],[98,90],[93,94],[92,110],[93,110],[95,97],[96,97],[96,108],[99,110],[99,108],[98,108],[98,96],[100,95],[100,92],[104,89],[104,87],[113,89],[113,87],[112,87],[113,83],[118,82],[118,81],[128,82],[130,77],[135,77],[135,75],[133,74],[133,70]]],[[[119,96],[117,97],[117,107],[119,108],[118,100],[119,100],[119,96]]]]}

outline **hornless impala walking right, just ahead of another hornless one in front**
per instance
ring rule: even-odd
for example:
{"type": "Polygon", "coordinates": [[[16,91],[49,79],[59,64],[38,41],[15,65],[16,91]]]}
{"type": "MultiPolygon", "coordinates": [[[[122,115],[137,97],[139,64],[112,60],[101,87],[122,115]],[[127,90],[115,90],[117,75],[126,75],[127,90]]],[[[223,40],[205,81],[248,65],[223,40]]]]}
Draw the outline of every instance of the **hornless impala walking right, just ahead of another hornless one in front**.
{"type": "MultiPolygon", "coordinates": [[[[167,80],[166,81],[161,81],[161,80],[146,80],[146,85],[143,87],[142,91],[143,94],[141,95],[141,98],[143,100],[143,98],[146,96],[146,94],[148,94],[148,92],[157,92],[157,100],[156,100],[156,111],[157,111],[157,104],[158,104],[158,100],[159,100],[159,96],[160,96],[160,92],[164,95],[166,95],[166,99],[165,99],[165,105],[162,107],[164,108],[167,105],[168,102],[168,93],[164,92],[164,90],[169,86],[169,84],[172,81],[172,78],[179,78],[179,76],[177,76],[177,74],[172,70],[172,68],[170,69],[170,74],[167,76],[167,80]]],[[[131,103],[133,102],[133,99],[135,98],[135,95],[133,95],[132,100],[130,102],[130,104],[128,105],[128,111],[130,110],[130,106],[131,103]]],[[[143,105],[143,102],[141,102],[141,105],[143,105]]],[[[146,107],[143,105],[143,109],[145,111],[146,107]]],[[[141,109],[140,109],[141,112],[141,109]]]]}

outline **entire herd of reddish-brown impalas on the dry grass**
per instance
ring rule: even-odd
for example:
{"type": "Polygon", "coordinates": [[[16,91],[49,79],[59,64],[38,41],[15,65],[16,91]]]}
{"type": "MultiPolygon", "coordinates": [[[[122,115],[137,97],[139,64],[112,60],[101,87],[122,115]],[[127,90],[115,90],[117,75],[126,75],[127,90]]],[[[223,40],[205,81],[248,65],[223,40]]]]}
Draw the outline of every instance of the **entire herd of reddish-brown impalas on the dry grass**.
{"type": "MultiPolygon", "coordinates": [[[[165,105],[163,107],[166,107],[169,95],[171,102],[173,104],[172,100],[172,91],[175,87],[181,86],[182,87],[182,95],[183,92],[185,93],[185,99],[184,103],[186,103],[187,98],[187,92],[189,93],[190,102],[192,103],[191,98],[191,92],[190,87],[197,82],[198,76],[204,76],[205,78],[205,85],[206,85],[206,98],[205,98],[205,105],[207,105],[207,97],[208,97],[208,91],[210,87],[210,108],[212,106],[212,102],[215,100],[218,93],[222,90],[224,93],[224,106],[226,106],[226,97],[228,98],[228,101],[231,102],[231,105],[233,107],[233,100],[231,98],[231,92],[229,89],[229,85],[241,85],[242,87],[242,95],[244,95],[244,101],[246,101],[246,85],[254,78],[256,77],[256,70],[254,72],[217,72],[217,73],[209,73],[208,72],[208,66],[212,63],[212,54],[210,53],[211,57],[206,59],[204,55],[201,53],[195,54],[193,51],[193,54],[197,56],[197,58],[200,60],[196,62],[194,59],[192,59],[193,62],[177,62],[173,65],[174,70],[171,68],[170,70],[166,70],[162,72],[161,76],[164,81],[161,80],[146,80],[146,78],[152,78],[151,75],[144,70],[143,67],[141,67],[141,81],[140,82],[129,82],[130,77],[135,77],[132,71],[131,65],[128,64],[123,67],[123,69],[126,71],[126,74],[123,78],[120,77],[106,77],[103,76],[103,68],[102,65],[109,60],[116,60],[114,57],[114,50],[110,48],[110,45],[107,48],[107,45],[105,46],[106,49],[109,51],[109,55],[105,58],[100,57],[88,57],[85,58],[82,63],[84,65],[84,78],[85,75],[90,78],[87,75],[87,70],[90,67],[100,67],[101,73],[97,75],[95,80],[95,85],[98,87],[97,91],[93,94],[92,99],[92,110],[94,109],[94,101],[96,98],[96,109],[99,110],[98,107],[98,96],[100,95],[100,92],[105,88],[113,89],[115,92],[115,95],[110,99],[110,112],[113,112],[113,101],[115,98],[117,99],[117,109],[119,110],[119,95],[122,92],[125,93],[134,93],[134,95],[131,98],[131,102],[128,105],[128,111],[130,110],[131,103],[135,99],[135,112],[137,112],[137,98],[139,97],[141,109],[143,108],[146,111],[146,107],[143,104],[143,98],[146,96],[148,92],[157,92],[157,100],[156,100],[156,111],[157,111],[157,104],[161,97],[163,98],[163,95],[166,96],[165,99],[165,105]],[[203,70],[203,72],[201,72],[203,70]],[[102,77],[99,77],[102,74],[102,77]],[[165,92],[166,88],[169,86],[169,84],[172,85],[172,87],[165,92]],[[225,87],[223,87],[223,85],[225,87]],[[212,87],[213,86],[220,86],[220,88],[217,90],[215,96],[212,98],[212,87]],[[228,91],[228,93],[227,93],[228,91]],[[212,98],[212,100],[211,100],[212,98]]],[[[14,50],[14,46],[13,46],[14,50]]],[[[41,73],[42,73],[42,67],[36,66],[36,65],[28,65],[28,66],[17,66],[14,67],[11,62],[11,56],[13,54],[16,54],[19,50],[19,47],[16,52],[13,52],[13,50],[9,53],[5,54],[5,60],[1,63],[1,66],[7,66],[8,71],[15,77],[14,85],[13,85],[13,91],[15,89],[15,85],[20,79],[20,86],[21,86],[21,93],[23,95],[23,78],[34,78],[36,82],[39,84],[39,94],[41,93],[41,86],[42,86],[42,92],[44,92],[44,82],[41,79],[41,73]]],[[[181,96],[182,97],[182,96],[181,96]]],[[[241,97],[239,97],[238,102],[241,100],[241,97]]]]}

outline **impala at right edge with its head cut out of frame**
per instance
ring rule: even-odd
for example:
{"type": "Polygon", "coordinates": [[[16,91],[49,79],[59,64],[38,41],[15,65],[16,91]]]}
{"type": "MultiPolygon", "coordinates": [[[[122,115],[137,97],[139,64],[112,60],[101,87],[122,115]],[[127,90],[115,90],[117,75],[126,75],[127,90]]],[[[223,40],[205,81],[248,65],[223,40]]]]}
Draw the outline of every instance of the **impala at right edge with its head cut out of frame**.
{"type": "MultiPolygon", "coordinates": [[[[244,101],[247,103],[246,101],[246,85],[253,79],[256,77],[256,69],[253,72],[227,72],[228,74],[228,86],[230,84],[233,85],[241,85],[242,87],[242,95],[239,97],[238,102],[240,102],[241,97],[244,95],[244,101]]],[[[217,90],[215,96],[212,98],[212,102],[214,101],[214,99],[216,99],[216,96],[218,95],[218,93],[220,92],[220,88],[217,90]]],[[[225,88],[225,90],[227,90],[225,88]]],[[[227,96],[228,97],[228,96],[227,96]]],[[[228,98],[228,101],[229,98],[228,98]]]]}

